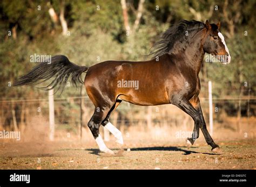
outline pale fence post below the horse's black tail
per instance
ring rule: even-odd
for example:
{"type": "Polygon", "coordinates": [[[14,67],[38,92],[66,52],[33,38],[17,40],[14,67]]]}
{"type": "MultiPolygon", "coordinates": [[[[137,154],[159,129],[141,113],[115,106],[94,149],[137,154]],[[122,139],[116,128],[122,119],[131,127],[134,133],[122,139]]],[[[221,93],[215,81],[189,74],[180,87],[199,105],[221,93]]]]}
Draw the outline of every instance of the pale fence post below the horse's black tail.
{"type": "Polygon", "coordinates": [[[50,141],[54,140],[54,131],[55,131],[55,121],[54,121],[54,98],[53,98],[53,89],[49,90],[49,124],[50,124],[50,141]]]}

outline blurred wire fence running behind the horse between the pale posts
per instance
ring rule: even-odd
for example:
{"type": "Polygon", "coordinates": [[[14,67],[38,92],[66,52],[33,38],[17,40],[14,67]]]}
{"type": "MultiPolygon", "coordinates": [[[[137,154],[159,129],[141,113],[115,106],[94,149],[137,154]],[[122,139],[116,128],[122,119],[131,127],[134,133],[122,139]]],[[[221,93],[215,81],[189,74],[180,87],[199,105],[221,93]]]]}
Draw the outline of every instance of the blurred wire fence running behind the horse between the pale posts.
{"type": "MultiPolygon", "coordinates": [[[[85,105],[83,123],[90,120],[94,106],[89,97],[66,97],[55,98],[55,123],[59,128],[77,128],[81,125],[81,100],[85,105]]],[[[200,98],[205,119],[208,120],[208,98],[200,98]]],[[[255,116],[256,97],[243,96],[213,98],[213,120],[221,123],[227,117],[250,118],[255,116]],[[240,109],[239,109],[240,107],[240,109]]],[[[48,98],[17,99],[0,101],[0,126],[18,128],[29,125],[33,117],[43,116],[49,118],[48,98]],[[15,127],[17,126],[17,127],[15,127]]],[[[129,125],[178,125],[183,123],[186,114],[175,106],[138,106],[123,102],[118,109],[112,113],[111,120],[117,126],[129,125]]]]}

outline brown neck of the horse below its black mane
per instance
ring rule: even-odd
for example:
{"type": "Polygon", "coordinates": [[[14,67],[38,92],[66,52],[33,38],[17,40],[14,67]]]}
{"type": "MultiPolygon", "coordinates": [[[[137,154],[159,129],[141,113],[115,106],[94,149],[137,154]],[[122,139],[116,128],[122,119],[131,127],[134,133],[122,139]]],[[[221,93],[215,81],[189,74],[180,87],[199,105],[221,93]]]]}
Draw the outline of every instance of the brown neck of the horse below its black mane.
{"type": "Polygon", "coordinates": [[[185,46],[181,46],[179,43],[174,45],[174,51],[171,52],[172,55],[179,56],[179,59],[182,60],[182,66],[186,68],[190,68],[197,75],[200,72],[201,65],[204,60],[204,49],[203,49],[203,40],[204,35],[203,32],[198,32],[190,42],[187,42],[185,46]]]}

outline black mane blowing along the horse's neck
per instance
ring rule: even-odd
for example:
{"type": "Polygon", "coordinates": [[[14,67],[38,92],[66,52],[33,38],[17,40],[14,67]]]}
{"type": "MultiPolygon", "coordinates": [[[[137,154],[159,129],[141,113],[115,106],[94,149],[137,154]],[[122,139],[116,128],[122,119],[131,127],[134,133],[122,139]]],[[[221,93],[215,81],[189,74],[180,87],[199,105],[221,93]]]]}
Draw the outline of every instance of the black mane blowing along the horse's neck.
{"type": "Polygon", "coordinates": [[[153,50],[150,53],[152,59],[157,56],[161,56],[172,51],[173,45],[179,41],[181,44],[184,40],[188,40],[193,32],[198,32],[202,28],[205,28],[205,24],[196,20],[181,20],[178,24],[168,28],[161,36],[159,40],[153,45],[153,50]],[[186,36],[186,31],[188,31],[188,36],[186,36]]]}

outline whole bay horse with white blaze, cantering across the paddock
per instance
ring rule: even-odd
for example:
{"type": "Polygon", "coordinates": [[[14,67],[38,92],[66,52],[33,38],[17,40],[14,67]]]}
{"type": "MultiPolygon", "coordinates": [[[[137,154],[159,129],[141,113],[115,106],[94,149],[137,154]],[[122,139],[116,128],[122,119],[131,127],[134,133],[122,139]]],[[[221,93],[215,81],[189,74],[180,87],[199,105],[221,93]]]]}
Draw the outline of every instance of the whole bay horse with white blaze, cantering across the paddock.
{"type": "Polygon", "coordinates": [[[231,61],[231,56],[220,33],[220,22],[210,24],[208,20],[201,23],[196,20],[181,20],[171,26],[160,37],[153,47],[149,61],[105,61],[91,67],[77,66],[64,55],[51,58],[51,63],[39,63],[28,74],[15,83],[35,85],[53,78],[47,89],[64,89],[68,78],[73,84],[84,83],[87,94],[95,105],[95,111],[87,124],[95,138],[100,151],[114,154],[106,147],[99,134],[103,125],[123,145],[122,133],[114,127],[109,117],[111,112],[124,100],[143,105],[173,104],[190,115],[194,120],[191,138],[186,145],[192,146],[199,137],[199,128],[212,151],[220,153],[220,147],[208,133],[200,106],[199,71],[205,53],[215,55],[223,64],[231,61]],[[221,57],[224,56],[224,57],[221,57]],[[81,74],[87,72],[84,81],[81,74]],[[120,84],[120,81],[126,84],[120,84]],[[135,89],[127,82],[136,81],[135,89]]]}

